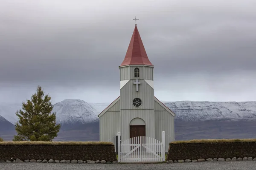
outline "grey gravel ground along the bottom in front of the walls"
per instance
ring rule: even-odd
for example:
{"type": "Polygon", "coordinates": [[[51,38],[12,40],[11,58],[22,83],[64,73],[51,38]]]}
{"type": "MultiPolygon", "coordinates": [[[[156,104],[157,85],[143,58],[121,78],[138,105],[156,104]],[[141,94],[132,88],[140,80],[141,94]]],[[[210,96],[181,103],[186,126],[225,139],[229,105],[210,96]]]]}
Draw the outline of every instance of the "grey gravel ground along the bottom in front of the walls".
{"type": "Polygon", "coordinates": [[[255,170],[256,161],[173,164],[0,163],[0,170],[255,170]]]}

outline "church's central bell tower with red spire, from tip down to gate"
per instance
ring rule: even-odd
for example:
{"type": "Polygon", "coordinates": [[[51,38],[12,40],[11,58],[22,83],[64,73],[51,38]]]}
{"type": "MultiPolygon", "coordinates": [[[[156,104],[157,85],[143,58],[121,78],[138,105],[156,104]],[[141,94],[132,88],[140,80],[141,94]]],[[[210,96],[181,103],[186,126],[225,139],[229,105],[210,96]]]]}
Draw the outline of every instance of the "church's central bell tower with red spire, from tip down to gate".
{"type": "Polygon", "coordinates": [[[121,134],[125,139],[139,133],[155,137],[153,69],[135,24],[125,58],[119,66],[121,134]],[[142,122],[144,125],[140,125],[142,122]]]}

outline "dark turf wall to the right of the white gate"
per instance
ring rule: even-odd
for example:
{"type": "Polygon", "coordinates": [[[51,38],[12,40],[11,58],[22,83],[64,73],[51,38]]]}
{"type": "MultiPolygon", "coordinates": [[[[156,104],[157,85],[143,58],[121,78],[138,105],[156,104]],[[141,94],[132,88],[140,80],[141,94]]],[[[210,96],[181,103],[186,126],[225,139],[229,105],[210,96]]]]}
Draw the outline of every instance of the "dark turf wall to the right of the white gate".
{"type": "Polygon", "coordinates": [[[256,157],[256,142],[170,143],[167,160],[256,157]]]}

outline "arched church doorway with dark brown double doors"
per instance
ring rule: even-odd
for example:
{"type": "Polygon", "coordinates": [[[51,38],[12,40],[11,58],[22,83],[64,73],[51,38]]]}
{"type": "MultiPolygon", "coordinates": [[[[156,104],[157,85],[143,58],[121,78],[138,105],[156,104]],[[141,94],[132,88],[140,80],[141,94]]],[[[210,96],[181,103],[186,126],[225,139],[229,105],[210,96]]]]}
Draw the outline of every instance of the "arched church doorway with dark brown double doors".
{"type": "Polygon", "coordinates": [[[130,122],[130,138],[137,136],[146,136],[146,124],[140,118],[134,118],[130,122]]]}

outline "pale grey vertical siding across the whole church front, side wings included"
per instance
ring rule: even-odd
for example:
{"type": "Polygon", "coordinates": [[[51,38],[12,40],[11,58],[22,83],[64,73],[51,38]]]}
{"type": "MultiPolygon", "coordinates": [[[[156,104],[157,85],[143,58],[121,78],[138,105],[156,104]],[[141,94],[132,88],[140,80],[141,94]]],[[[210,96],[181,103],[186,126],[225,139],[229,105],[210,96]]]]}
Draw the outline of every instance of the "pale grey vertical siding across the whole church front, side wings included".
{"type": "Polygon", "coordinates": [[[162,141],[162,131],[165,131],[165,148],[169,149],[169,142],[174,141],[174,116],[154,101],[154,89],[144,79],[153,79],[153,68],[148,66],[127,66],[120,68],[120,80],[130,79],[120,89],[120,100],[116,102],[100,119],[100,141],[108,141],[116,144],[117,132],[121,132],[121,141],[130,138],[130,122],[134,118],[143,119],[146,126],[146,136],[162,141]],[[134,68],[140,69],[140,78],[134,78],[134,68]],[[141,82],[133,83],[136,79],[141,82]],[[134,107],[132,101],[140,98],[142,105],[134,107]]]}

